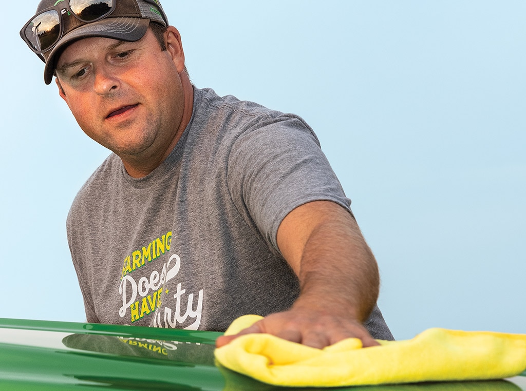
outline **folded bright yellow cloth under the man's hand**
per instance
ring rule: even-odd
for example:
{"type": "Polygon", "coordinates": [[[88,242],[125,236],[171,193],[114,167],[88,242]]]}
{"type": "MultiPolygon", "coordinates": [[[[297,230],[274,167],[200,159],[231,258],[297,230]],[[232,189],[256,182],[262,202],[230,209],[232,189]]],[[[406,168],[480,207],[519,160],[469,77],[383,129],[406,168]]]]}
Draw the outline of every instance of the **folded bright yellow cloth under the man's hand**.
{"type": "MultiPolygon", "coordinates": [[[[225,335],[260,320],[245,315],[225,335]]],[[[261,382],[338,387],[512,377],[526,369],[526,335],[430,328],[405,341],[362,348],[348,338],[323,349],[269,334],[247,334],[215,350],[217,361],[261,382]]]]}

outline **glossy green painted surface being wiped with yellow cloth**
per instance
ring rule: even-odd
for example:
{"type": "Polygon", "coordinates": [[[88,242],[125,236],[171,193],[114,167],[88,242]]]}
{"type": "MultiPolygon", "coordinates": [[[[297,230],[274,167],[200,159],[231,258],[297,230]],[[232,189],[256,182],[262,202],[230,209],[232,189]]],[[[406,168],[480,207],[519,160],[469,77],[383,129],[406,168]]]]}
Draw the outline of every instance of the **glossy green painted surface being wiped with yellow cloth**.
{"type": "MultiPolygon", "coordinates": [[[[307,390],[262,384],[216,366],[214,342],[219,335],[0,318],[0,390],[307,390]]],[[[338,389],[526,391],[523,380],[338,389]]]]}

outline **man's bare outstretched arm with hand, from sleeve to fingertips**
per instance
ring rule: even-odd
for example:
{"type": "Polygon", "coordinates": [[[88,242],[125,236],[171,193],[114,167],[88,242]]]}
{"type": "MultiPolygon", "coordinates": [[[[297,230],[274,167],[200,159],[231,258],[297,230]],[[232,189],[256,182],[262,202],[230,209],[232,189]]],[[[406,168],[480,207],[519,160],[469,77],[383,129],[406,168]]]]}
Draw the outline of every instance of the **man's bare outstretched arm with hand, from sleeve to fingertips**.
{"type": "Polygon", "coordinates": [[[378,343],[362,322],[378,298],[376,260],[351,214],[331,201],[309,202],[291,211],[278,229],[278,246],[299,277],[300,295],[284,312],[268,315],[241,333],[269,333],[322,348],[358,337],[378,343]]]}

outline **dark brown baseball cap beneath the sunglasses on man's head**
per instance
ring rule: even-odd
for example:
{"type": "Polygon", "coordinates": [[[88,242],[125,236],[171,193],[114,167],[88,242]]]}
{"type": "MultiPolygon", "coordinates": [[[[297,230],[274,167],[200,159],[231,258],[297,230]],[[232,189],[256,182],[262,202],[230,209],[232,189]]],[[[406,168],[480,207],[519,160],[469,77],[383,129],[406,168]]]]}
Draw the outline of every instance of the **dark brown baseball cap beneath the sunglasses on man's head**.
{"type": "MultiPolygon", "coordinates": [[[[157,0],[112,0],[110,3],[115,2],[113,12],[96,22],[82,22],[82,20],[71,15],[69,11],[73,9],[74,0],[42,0],[38,4],[36,13],[38,14],[50,7],[60,8],[60,3],[65,1],[68,2],[69,9],[65,5],[59,11],[62,36],[50,51],[37,53],[46,63],[44,68],[46,84],[50,84],[53,80],[57,55],[60,55],[67,45],[76,40],[88,37],[104,37],[134,42],[146,34],[150,20],[168,26],[168,18],[157,0]]],[[[91,3],[92,6],[98,5],[95,1],[91,3]]],[[[23,31],[24,29],[21,34],[23,31]]],[[[27,39],[24,40],[27,42],[27,39]]],[[[31,49],[34,50],[33,47],[31,49]]]]}

